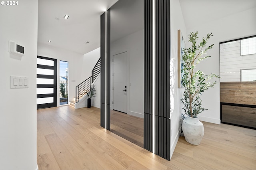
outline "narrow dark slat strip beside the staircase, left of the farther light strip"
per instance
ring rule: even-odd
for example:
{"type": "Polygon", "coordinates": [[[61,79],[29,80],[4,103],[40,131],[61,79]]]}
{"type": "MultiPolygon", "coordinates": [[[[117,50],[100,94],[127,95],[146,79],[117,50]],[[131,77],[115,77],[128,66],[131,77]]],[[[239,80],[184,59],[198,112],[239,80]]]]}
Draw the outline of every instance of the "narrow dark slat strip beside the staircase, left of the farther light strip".
{"type": "Polygon", "coordinates": [[[106,13],[100,16],[100,126],[105,128],[105,42],[106,42],[106,13]]]}

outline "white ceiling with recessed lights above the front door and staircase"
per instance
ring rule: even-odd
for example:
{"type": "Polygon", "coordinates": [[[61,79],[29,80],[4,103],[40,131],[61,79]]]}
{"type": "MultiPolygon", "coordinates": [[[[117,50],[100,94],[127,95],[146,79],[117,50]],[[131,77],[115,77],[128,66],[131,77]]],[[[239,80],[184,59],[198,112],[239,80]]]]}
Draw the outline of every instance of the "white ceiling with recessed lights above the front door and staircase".
{"type": "Polygon", "coordinates": [[[38,42],[81,54],[100,47],[100,15],[117,1],[38,0],[38,42]]]}

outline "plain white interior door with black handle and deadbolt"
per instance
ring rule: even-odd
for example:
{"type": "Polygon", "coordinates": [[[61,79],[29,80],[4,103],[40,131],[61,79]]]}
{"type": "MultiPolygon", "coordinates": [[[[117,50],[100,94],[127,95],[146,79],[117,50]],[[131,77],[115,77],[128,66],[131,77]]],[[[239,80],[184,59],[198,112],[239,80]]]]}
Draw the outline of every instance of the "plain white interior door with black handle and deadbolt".
{"type": "Polygon", "coordinates": [[[127,113],[127,52],[113,55],[113,110],[127,113]]]}

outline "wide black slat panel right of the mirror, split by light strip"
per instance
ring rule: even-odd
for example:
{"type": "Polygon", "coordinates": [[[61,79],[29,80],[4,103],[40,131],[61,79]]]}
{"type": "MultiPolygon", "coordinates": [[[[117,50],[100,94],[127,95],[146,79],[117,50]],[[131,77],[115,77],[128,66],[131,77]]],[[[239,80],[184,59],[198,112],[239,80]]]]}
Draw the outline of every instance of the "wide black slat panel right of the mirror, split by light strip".
{"type": "MultiPolygon", "coordinates": [[[[144,148],[152,151],[152,0],[144,0],[144,148]]],[[[155,1],[155,152],[170,160],[170,0],[155,1]]]]}

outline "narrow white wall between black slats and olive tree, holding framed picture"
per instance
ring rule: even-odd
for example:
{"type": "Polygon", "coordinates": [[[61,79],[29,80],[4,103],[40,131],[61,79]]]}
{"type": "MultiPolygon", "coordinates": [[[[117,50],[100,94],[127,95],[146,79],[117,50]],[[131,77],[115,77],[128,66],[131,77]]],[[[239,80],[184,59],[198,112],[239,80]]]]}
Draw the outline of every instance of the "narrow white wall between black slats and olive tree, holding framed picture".
{"type": "Polygon", "coordinates": [[[170,113],[171,113],[171,156],[180,136],[180,115],[183,88],[178,88],[178,30],[186,41],[186,27],[179,0],[171,0],[171,61],[170,61],[170,113]]]}

